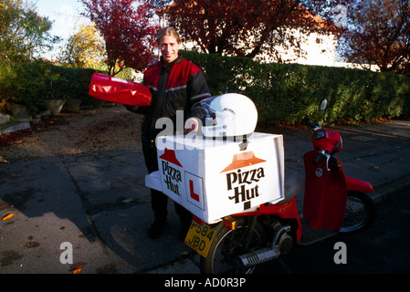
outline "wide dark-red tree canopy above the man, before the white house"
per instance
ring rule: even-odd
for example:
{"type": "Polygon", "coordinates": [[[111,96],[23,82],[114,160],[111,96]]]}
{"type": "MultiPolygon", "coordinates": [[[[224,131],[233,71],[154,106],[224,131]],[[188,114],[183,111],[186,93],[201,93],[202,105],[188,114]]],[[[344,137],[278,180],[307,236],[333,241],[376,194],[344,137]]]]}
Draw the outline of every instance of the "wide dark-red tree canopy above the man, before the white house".
{"type": "MultiPolygon", "coordinates": [[[[333,7],[349,1],[300,0],[152,0],[175,26],[184,41],[209,54],[277,58],[276,45],[299,50],[300,39],[291,32],[337,34],[331,24],[333,7]],[[321,17],[317,16],[320,14],[321,17]]],[[[280,61],[280,60],[279,60],[280,61]]]]}

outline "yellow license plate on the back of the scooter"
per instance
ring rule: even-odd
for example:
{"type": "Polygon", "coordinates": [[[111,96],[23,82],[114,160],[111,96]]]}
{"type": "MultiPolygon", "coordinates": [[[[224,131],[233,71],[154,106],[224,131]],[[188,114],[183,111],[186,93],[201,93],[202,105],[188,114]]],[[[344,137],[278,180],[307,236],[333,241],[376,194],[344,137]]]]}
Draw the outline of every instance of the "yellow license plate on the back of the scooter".
{"type": "Polygon", "coordinates": [[[215,229],[208,224],[198,224],[193,220],[185,237],[185,244],[189,245],[199,255],[206,257],[215,234],[215,229]]]}

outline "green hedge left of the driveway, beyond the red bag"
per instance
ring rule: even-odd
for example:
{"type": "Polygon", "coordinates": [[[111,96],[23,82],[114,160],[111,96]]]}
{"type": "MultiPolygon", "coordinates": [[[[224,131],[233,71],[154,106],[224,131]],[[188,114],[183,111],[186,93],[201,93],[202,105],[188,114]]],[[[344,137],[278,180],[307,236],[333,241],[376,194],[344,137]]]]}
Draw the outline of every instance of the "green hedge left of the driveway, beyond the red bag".
{"type": "Polygon", "coordinates": [[[0,100],[26,105],[31,112],[43,110],[45,99],[90,100],[94,69],[9,61],[0,61],[0,67],[0,100]]]}

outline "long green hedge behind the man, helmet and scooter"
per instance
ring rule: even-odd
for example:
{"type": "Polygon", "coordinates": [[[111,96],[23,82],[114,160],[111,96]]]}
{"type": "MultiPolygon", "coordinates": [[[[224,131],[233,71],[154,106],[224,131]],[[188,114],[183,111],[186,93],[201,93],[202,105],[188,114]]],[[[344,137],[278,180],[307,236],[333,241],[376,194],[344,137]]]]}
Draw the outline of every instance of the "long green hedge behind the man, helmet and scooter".
{"type": "Polygon", "coordinates": [[[295,124],[320,120],[362,121],[410,116],[410,78],[360,69],[260,64],[246,57],[183,52],[205,72],[211,93],[240,92],[253,99],[259,122],[295,124]]]}

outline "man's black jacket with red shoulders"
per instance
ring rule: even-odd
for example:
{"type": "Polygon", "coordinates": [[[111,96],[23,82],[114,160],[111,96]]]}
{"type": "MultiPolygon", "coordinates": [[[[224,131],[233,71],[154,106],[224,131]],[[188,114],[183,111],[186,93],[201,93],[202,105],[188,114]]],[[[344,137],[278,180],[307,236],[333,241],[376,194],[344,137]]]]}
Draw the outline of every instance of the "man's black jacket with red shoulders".
{"type": "Polygon", "coordinates": [[[143,83],[151,89],[152,102],[143,109],[142,142],[155,140],[163,131],[155,129],[155,122],[160,118],[170,118],[175,132],[177,110],[184,110],[184,121],[190,117],[203,118],[199,101],[211,96],[205,76],[200,68],[181,55],[170,64],[158,61],[147,68],[143,83]]]}

